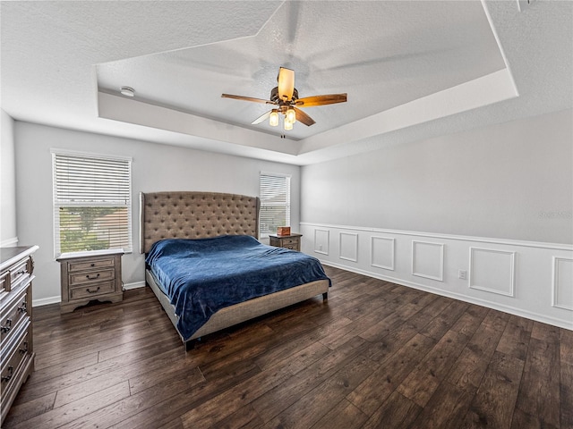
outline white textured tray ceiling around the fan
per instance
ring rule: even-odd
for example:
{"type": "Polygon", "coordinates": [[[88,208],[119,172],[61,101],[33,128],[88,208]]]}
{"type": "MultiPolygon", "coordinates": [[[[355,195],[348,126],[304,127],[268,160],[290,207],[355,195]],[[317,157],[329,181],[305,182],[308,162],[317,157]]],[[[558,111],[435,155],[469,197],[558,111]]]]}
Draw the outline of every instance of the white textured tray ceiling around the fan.
{"type": "Polygon", "coordinates": [[[1,101],[21,121],[309,164],[573,105],[573,4],[2,2],[1,101]],[[279,66],[300,97],[251,122],[279,66]],[[122,86],[136,97],[120,96],[122,86]]]}

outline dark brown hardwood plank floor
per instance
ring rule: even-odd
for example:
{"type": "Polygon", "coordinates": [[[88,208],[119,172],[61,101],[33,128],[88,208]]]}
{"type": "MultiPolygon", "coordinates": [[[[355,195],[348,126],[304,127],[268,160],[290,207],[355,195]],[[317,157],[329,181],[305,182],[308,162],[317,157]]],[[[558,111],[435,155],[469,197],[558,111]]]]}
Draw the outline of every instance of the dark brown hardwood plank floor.
{"type": "Polygon", "coordinates": [[[36,307],[36,371],[3,427],[573,427],[573,332],[325,268],[328,301],[188,353],[149,288],[36,307]]]}

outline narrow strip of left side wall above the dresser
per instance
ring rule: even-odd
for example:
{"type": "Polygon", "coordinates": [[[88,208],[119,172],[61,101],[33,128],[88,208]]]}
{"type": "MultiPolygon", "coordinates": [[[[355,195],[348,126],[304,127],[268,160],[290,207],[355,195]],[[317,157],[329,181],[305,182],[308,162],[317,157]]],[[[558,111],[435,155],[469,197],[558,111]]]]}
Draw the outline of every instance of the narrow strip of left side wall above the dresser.
{"type": "Polygon", "coordinates": [[[14,173],[14,121],[0,109],[0,245],[14,246],[16,231],[16,183],[14,173]]]}

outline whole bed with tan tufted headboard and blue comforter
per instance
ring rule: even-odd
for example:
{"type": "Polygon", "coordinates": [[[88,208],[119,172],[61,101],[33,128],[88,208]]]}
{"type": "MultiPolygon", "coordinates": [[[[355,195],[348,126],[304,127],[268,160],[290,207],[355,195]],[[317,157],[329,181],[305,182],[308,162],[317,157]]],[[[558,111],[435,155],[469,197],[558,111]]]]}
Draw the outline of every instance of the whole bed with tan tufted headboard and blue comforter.
{"type": "MultiPolygon", "coordinates": [[[[140,252],[146,255],[145,280],[174,324],[186,349],[192,349],[195,341],[205,335],[268,314],[279,308],[311,299],[317,295],[328,299],[330,280],[322,270],[318,259],[294,250],[271,248],[255,240],[259,235],[259,198],[192,191],[141,193],[140,197],[140,252]],[[216,248],[233,251],[235,243],[239,246],[238,253],[250,255],[251,259],[254,258],[257,261],[256,264],[252,264],[256,268],[260,265],[260,261],[266,259],[272,259],[273,262],[270,264],[273,266],[278,264],[278,259],[281,260],[282,265],[277,265],[275,272],[269,273],[267,277],[269,284],[261,281],[261,272],[257,270],[252,273],[251,279],[249,277],[239,279],[233,268],[225,265],[233,258],[229,256],[231,254],[222,253],[221,255],[225,256],[218,257],[216,248]],[[193,257],[183,259],[179,253],[175,252],[179,249],[183,249],[183,253],[187,256],[193,257]],[[203,259],[196,257],[197,252],[203,250],[208,251],[211,254],[210,257],[215,258],[215,265],[209,265],[206,270],[203,259]],[[249,253],[252,251],[261,254],[249,253]],[[158,255],[161,258],[158,258],[158,255]],[[183,280],[179,277],[168,277],[167,274],[173,274],[170,272],[171,268],[158,269],[157,260],[166,257],[175,258],[178,270],[186,270],[185,273],[179,273],[180,277],[184,277],[183,280]],[[293,263],[294,265],[288,265],[293,263]],[[302,267],[306,264],[312,265],[310,269],[312,273],[308,274],[311,277],[308,277],[306,273],[302,274],[304,271],[302,267]],[[201,274],[201,270],[204,270],[206,274],[201,274]],[[300,276],[293,275],[298,274],[299,271],[300,276]],[[232,275],[225,276],[222,273],[232,273],[232,275]],[[283,275],[285,277],[281,277],[283,275]],[[194,287],[187,286],[187,284],[192,284],[191,278],[194,278],[195,282],[209,284],[213,288],[213,294],[221,297],[218,307],[213,307],[211,302],[208,305],[203,303],[202,307],[195,312],[203,313],[201,317],[204,320],[200,323],[195,321],[194,315],[190,315],[192,310],[190,310],[189,303],[198,301],[197,297],[202,293],[189,289],[194,287]],[[182,282],[189,283],[181,286],[182,282]],[[228,286],[227,282],[229,282],[228,286]],[[256,285],[258,289],[253,292],[237,293],[237,286],[233,282],[249,284],[249,286],[259,284],[256,285]],[[174,284],[177,287],[174,287],[174,284]],[[192,290],[189,292],[192,295],[183,298],[182,301],[184,295],[181,290],[188,292],[192,290]],[[175,294],[174,291],[176,291],[175,294]],[[188,326],[189,320],[192,320],[191,328],[188,326]]],[[[240,263],[239,265],[247,264],[240,263]]],[[[242,273],[241,275],[248,274],[242,273]]]]}

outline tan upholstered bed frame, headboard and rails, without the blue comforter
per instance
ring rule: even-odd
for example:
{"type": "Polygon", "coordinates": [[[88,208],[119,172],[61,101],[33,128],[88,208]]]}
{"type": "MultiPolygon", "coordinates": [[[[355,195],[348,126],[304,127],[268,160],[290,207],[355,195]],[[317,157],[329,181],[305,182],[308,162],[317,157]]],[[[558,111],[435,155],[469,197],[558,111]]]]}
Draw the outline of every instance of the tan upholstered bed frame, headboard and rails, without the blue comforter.
{"type": "MultiPolygon", "coordinates": [[[[217,192],[152,192],[140,193],[140,252],[147,254],[157,240],[203,239],[219,235],[251,235],[259,238],[259,210],[261,201],[256,197],[217,192]]],[[[175,307],[158,286],[158,280],[145,270],[145,280],[165,309],[177,329],[175,307]]],[[[328,299],[329,281],[305,283],[280,290],[264,297],[250,299],[225,307],[203,324],[192,337],[184,341],[185,349],[192,349],[195,340],[253,317],[265,315],[279,308],[311,299],[322,294],[328,299]]]]}

